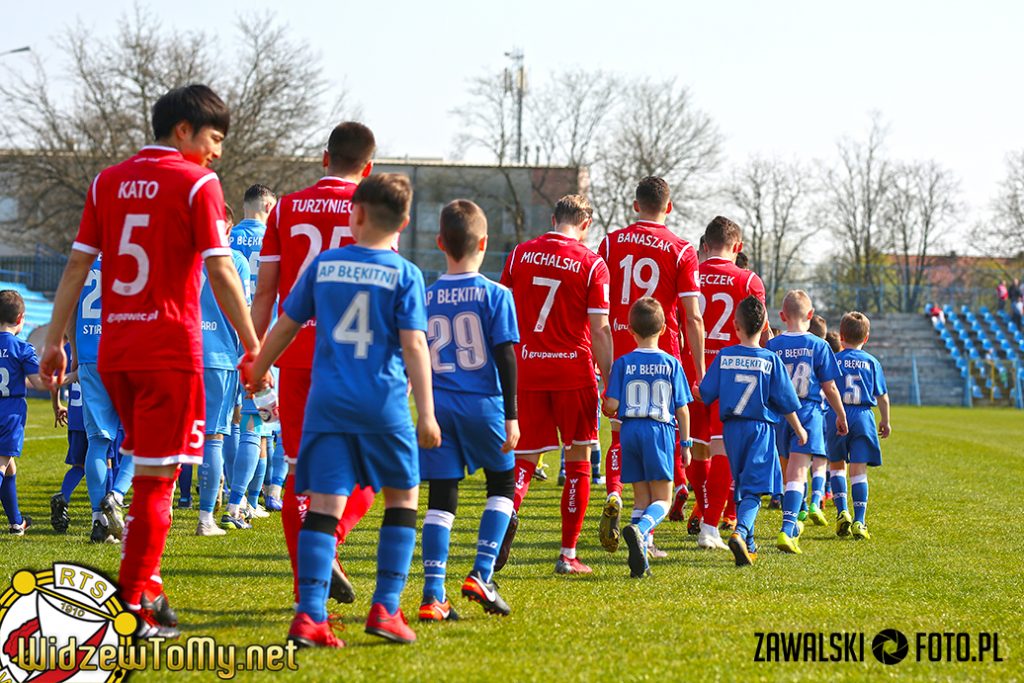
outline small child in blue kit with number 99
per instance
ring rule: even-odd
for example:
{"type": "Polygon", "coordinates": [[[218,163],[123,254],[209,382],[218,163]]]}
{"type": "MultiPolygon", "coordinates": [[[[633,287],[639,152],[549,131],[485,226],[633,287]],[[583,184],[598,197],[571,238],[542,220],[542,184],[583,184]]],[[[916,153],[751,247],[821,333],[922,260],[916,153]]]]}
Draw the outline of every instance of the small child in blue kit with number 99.
{"type": "Polygon", "coordinates": [[[636,350],[615,360],[601,410],[622,421],[623,483],[633,484],[633,523],[623,529],[629,548],[630,577],[650,574],[647,548],[651,531],[669,513],[677,442],[683,466],[690,463],[690,413],[693,400],[683,366],[657,346],[665,334],[665,311],[653,297],[630,307],[630,334],[636,350]]]}

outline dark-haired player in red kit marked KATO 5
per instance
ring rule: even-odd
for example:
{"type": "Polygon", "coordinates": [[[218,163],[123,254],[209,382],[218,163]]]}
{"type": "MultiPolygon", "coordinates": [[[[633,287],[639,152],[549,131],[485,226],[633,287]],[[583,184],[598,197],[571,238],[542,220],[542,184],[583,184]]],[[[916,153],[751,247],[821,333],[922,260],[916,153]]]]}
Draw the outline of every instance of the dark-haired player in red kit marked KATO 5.
{"type": "Polygon", "coordinates": [[[160,560],[171,526],[179,466],[203,462],[205,401],[200,271],[247,352],[259,340],[227,245],[224,196],[207,166],[220,157],[230,120],[205,85],[172,90],[153,106],[157,144],[99,173],[85,198],[78,237],[53,301],[40,374],[53,388],[68,358],[63,331],[96,255],[103,254],[98,370],[135,460],[118,583],[139,617],[136,637],[176,637],[160,560]],[[155,429],[154,425],[159,425],[155,429]]]}

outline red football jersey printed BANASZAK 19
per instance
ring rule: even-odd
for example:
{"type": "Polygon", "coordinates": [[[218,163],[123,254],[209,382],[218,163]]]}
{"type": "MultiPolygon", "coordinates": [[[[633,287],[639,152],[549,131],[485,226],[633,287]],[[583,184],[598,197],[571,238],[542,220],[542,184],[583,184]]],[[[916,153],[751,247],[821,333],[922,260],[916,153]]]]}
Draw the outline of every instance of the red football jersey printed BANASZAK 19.
{"type": "Polygon", "coordinates": [[[668,328],[658,340],[666,353],[680,357],[679,299],[700,294],[697,252],[660,223],[641,220],[606,237],[597,253],[611,280],[611,336],[615,357],[636,348],[630,334],[630,306],[649,296],[665,309],[668,328]]]}

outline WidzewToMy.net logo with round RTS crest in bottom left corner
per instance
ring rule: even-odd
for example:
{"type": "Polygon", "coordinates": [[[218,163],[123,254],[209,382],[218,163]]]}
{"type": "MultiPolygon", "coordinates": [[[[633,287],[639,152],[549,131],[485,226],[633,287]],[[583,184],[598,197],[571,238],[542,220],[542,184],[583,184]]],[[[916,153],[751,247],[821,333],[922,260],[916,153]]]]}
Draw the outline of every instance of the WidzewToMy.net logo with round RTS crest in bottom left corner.
{"type": "Polygon", "coordinates": [[[133,671],[295,671],[295,647],[219,645],[213,638],[136,641],[117,585],[77,564],[14,574],[0,596],[0,683],[123,681],[133,671]]]}

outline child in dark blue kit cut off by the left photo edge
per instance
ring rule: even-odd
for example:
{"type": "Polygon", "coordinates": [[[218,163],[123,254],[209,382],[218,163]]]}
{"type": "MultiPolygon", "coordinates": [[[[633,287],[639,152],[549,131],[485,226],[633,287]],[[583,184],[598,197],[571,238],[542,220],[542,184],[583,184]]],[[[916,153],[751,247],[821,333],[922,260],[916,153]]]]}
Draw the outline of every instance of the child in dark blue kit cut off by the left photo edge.
{"type": "Polygon", "coordinates": [[[16,470],[12,460],[25,446],[25,421],[29,404],[26,385],[47,391],[39,379],[36,349],[17,338],[25,323],[25,300],[14,290],[0,291],[0,504],[7,515],[9,531],[25,536],[32,519],[17,505],[16,470]]]}

